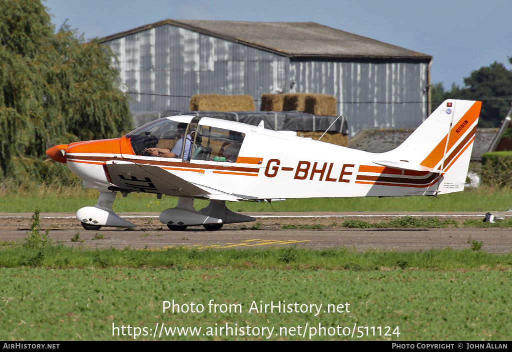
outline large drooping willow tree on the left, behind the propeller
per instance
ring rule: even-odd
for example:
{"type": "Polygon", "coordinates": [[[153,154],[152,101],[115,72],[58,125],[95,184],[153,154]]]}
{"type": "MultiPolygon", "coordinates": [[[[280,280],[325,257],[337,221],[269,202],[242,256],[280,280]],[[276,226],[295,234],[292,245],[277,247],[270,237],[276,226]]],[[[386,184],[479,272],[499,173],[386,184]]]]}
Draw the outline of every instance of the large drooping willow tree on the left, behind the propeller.
{"type": "Polygon", "coordinates": [[[119,137],[131,128],[113,54],[63,25],[40,0],[0,2],[0,178],[49,181],[55,144],[119,137]]]}

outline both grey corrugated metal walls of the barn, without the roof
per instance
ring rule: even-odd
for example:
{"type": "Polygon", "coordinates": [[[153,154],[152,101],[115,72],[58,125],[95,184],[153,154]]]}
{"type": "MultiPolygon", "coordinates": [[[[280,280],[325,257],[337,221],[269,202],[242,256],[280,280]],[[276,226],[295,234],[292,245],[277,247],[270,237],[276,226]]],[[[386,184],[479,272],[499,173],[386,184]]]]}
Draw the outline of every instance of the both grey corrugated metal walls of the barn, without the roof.
{"type": "Polygon", "coordinates": [[[195,94],[330,94],[350,135],[362,128],[415,128],[427,116],[427,61],[296,60],[172,25],[104,42],[132,94],[133,112],[188,110],[195,94]]]}

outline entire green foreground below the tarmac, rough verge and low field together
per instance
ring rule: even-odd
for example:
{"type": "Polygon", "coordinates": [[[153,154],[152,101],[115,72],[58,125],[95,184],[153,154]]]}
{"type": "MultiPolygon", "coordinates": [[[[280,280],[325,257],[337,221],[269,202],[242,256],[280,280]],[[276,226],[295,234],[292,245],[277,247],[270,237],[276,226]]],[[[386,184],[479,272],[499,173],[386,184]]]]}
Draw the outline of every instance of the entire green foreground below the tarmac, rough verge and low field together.
{"type": "Polygon", "coordinates": [[[511,254],[59,245],[6,246],[1,254],[3,341],[500,341],[512,334],[511,254]]]}

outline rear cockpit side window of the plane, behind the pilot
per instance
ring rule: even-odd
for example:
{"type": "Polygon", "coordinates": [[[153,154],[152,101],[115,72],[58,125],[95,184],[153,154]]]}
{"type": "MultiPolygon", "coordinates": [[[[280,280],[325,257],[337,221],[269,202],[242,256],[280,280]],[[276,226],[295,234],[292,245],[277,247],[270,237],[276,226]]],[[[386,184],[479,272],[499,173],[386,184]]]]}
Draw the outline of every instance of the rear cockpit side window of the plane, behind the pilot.
{"type": "Polygon", "coordinates": [[[193,160],[234,163],[245,138],[241,132],[210,126],[199,126],[196,134],[193,160]]]}

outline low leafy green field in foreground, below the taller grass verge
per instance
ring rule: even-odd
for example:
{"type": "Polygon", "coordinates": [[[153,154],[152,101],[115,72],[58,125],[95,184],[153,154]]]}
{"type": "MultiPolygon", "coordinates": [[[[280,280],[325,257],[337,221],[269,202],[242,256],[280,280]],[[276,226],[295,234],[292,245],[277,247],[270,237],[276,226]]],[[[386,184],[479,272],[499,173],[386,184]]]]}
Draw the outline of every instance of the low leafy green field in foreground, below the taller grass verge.
{"type": "Polygon", "coordinates": [[[504,341],[512,334],[509,271],[24,268],[0,275],[3,341],[504,341]]]}

